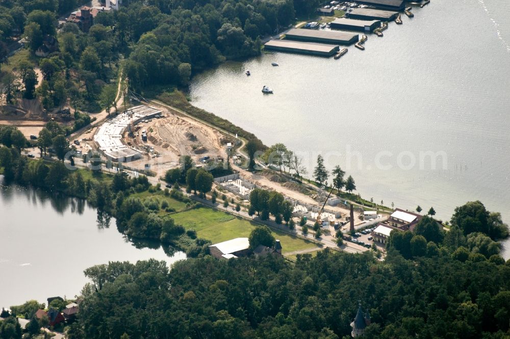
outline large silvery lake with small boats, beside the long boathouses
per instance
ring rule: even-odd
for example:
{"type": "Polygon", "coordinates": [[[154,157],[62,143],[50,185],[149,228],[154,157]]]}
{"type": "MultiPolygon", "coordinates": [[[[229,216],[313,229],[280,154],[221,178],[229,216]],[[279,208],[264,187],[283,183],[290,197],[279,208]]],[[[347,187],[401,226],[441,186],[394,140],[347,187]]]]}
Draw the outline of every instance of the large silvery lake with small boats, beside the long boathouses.
{"type": "Polygon", "coordinates": [[[322,154],[367,199],[433,206],[444,220],[480,200],[508,223],[510,2],[432,0],[413,12],[340,60],[267,52],[197,75],[192,104],[284,143],[309,174],[322,154]]]}

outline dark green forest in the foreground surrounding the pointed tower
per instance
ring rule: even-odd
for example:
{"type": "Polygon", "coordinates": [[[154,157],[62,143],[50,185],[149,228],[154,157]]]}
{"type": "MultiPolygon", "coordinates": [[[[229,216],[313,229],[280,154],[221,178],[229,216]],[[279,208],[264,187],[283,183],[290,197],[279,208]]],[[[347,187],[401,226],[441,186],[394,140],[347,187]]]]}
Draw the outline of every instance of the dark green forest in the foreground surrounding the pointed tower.
{"type": "Polygon", "coordinates": [[[510,262],[445,247],[405,259],[319,252],[298,257],[110,263],[86,270],[72,338],[348,337],[358,302],[366,338],[503,338],[510,262]]]}

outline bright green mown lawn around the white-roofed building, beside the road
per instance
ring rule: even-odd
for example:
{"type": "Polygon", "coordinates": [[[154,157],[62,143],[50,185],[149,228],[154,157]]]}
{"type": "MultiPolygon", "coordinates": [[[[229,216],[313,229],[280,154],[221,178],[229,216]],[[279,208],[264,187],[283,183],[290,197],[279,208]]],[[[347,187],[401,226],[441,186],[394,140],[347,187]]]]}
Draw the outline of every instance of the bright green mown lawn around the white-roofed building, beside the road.
{"type": "MultiPolygon", "coordinates": [[[[225,212],[209,208],[198,208],[172,214],[176,224],[187,230],[195,230],[198,237],[218,243],[233,238],[248,237],[256,224],[225,212]]],[[[283,232],[272,231],[282,243],[283,253],[316,247],[308,242],[283,232]]]]}

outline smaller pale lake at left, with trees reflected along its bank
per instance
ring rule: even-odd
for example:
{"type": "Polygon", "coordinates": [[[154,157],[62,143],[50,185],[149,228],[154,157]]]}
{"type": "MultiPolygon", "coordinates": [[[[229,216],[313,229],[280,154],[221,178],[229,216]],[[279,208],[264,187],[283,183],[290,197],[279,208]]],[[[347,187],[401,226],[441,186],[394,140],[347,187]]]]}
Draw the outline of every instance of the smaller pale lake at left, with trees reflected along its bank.
{"type": "Polygon", "coordinates": [[[170,265],[186,259],[183,252],[169,257],[157,244],[135,247],[117,231],[114,218],[98,217],[83,200],[2,186],[1,180],[0,307],[73,298],[89,282],[83,270],[93,265],[150,258],[170,265]]]}

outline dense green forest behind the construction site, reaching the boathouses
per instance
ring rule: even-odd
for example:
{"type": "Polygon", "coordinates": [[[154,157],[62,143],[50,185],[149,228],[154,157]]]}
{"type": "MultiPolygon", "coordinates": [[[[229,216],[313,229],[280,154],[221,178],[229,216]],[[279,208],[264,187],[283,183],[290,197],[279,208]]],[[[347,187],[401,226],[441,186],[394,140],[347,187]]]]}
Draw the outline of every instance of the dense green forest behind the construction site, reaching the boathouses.
{"type": "Polygon", "coordinates": [[[259,54],[261,36],[288,26],[296,15],[314,12],[316,3],[124,0],[118,11],[99,12],[83,32],[72,22],[57,29],[57,19],[83,0],[6,0],[0,3],[2,94],[8,104],[37,97],[47,110],[64,104],[87,111],[110,109],[120,75],[139,93],[186,86],[196,72],[259,54]],[[19,37],[30,53],[2,71],[19,37]],[[55,39],[58,44],[48,55],[34,55],[55,39]],[[34,67],[43,75],[40,83],[34,67]]]}

